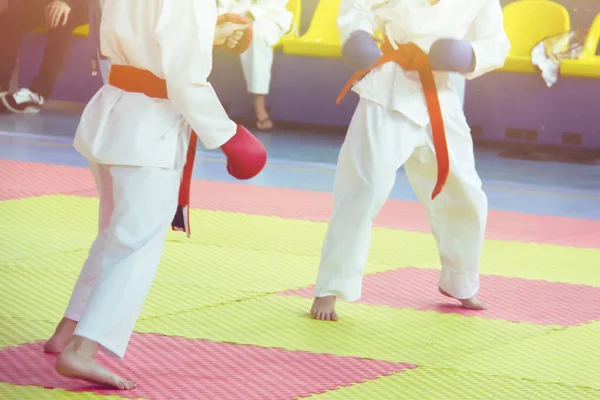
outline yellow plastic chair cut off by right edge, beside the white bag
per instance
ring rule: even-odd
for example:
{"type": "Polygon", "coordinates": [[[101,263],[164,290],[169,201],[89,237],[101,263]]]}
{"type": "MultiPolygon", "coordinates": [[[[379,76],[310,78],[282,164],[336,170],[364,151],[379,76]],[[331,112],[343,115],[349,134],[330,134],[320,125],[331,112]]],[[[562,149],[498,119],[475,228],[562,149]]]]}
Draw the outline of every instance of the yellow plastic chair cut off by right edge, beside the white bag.
{"type": "Polygon", "coordinates": [[[583,51],[578,59],[562,60],[560,73],[565,76],[600,78],[600,55],[596,55],[600,42],[600,14],[596,15],[588,32],[583,51]]]}

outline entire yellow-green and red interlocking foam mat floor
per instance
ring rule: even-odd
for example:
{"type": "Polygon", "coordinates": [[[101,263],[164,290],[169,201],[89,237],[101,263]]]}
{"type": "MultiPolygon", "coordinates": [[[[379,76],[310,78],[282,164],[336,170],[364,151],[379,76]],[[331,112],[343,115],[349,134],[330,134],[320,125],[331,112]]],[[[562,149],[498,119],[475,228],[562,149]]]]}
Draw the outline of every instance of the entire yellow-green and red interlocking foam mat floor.
{"type": "Polygon", "coordinates": [[[1,399],[600,399],[598,221],[492,212],[477,313],[437,293],[420,206],[390,202],[363,298],[326,323],[308,311],[329,195],[215,182],[194,182],[192,238],[167,235],[125,360],[100,357],[139,387],[63,379],[42,346],[94,239],[93,180],[0,165],[1,399]]]}

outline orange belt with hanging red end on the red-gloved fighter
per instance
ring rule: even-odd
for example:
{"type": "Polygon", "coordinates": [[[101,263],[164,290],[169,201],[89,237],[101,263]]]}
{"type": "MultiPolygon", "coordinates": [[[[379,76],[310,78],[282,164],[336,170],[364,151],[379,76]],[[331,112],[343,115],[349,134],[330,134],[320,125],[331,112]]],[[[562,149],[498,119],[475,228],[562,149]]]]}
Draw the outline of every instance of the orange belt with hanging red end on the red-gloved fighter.
{"type": "MultiPolygon", "coordinates": [[[[108,83],[111,86],[132,93],[142,93],[155,99],[167,99],[167,83],[150,71],[127,66],[113,65],[110,68],[108,83]]],[[[181,185],[179,186],[179,204],[171,227],[175,231],[186,232],[190,236],[190,188],[192,171],[196,158],[198,137],[195,132],[190,136],[187,159],[183,167],[181,185]]]]}

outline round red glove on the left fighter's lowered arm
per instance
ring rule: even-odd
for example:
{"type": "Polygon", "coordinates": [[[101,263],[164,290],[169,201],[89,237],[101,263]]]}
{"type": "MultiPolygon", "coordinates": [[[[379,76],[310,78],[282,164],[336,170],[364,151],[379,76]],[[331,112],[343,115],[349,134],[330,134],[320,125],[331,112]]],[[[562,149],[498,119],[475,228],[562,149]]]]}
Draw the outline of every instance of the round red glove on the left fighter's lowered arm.
{"type": "Polygon", "coordinates": [[[254,178],[267,163],[267,151],[262,143],[241,125],[221,150],[227,157],[227,172],[236,179],[254,178]]]}

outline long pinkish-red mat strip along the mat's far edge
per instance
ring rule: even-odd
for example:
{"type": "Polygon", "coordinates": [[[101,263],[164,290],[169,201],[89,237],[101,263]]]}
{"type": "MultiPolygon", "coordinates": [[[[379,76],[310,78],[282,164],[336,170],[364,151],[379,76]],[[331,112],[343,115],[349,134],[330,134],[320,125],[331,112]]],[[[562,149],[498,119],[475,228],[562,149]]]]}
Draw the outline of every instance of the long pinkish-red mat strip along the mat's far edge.
{"type": "MultiPolygon", "coordinates": [[[[97,196],[86,168],[0,160],[0,200],[49,194],[97,196]]],[[[327,222],[331,194],[248,184],[195,180],[192,208],[268,215],[280,218],[327,222]]],[[[419,203],[390,200],[375,226],[429,232],[425,210],[419,203]]],[[[547,243],[579,248],[600,248],[600,221],[522,214],[492,210],[487,237],[497,240],[547,243]]]]}

